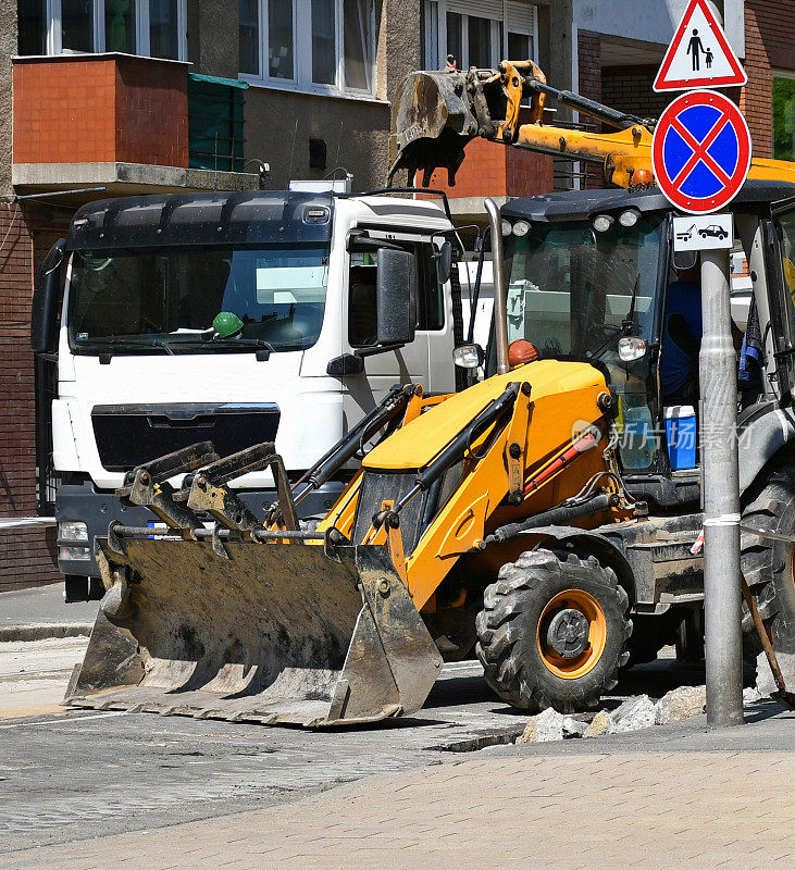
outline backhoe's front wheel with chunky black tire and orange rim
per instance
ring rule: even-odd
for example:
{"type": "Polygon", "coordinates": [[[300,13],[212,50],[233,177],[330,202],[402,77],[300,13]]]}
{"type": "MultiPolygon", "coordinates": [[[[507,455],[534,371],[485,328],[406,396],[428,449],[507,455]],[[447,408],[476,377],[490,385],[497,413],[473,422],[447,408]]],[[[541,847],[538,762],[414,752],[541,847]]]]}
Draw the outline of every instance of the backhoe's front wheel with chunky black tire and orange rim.
{"type": "Polygon", "coordinates": [[[522,710],[593,709],[629,658],[629,598],[593,556],[538,549],[500,569],[477,614],[486,682],[522,710]]]}

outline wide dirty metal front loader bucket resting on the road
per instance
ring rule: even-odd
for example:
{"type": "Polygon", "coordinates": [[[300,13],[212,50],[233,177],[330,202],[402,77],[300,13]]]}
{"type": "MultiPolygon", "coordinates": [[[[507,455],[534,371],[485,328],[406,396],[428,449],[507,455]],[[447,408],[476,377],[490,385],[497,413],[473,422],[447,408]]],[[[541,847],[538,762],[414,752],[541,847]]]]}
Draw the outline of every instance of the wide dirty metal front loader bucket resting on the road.
{"type": "Polygon", "coordinates": [[[378,546],[98,539],[117,579],[65,703],[306,726],[422,707],[442,660],[378,546]]]}

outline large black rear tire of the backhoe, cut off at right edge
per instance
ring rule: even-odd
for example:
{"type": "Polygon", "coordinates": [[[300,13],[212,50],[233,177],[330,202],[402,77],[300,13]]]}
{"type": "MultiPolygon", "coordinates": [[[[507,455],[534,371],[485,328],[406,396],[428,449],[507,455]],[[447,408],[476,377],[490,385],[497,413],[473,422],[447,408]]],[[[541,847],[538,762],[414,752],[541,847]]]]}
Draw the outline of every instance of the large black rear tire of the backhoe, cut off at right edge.
{"type": "MultiPolygon", "coordinates": [[[[743,511],[743,525],[781,535],[795,533],[795,462],[786,462],[754,484],[743,511]]],[[[741,532],[742,568],[759,616],[772,630],[777,649],[795,652],[794,544],[741,532]]],[[[743,654],[755,664],[761,651],[750,612],[743,601],[743,654]]]]}

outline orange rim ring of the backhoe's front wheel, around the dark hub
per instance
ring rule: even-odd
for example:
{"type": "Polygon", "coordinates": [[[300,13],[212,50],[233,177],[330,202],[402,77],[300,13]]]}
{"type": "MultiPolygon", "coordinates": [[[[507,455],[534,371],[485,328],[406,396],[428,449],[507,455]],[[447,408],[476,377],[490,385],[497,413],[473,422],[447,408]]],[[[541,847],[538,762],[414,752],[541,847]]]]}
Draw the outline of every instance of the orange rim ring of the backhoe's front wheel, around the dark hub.
{"type": "Polygon", "coordinates": [[[591,671],[605,651],[607,619],[601,605],[583,589],[558,593],[544,608],[536,633],[538,652],[546,668],[563,680],[579,680],[591,671]],[[550,643],[548,633],[552,621],[563,611],[576,611],[587,622],[585,648],[570,658],[561,655],[550,643]]]}

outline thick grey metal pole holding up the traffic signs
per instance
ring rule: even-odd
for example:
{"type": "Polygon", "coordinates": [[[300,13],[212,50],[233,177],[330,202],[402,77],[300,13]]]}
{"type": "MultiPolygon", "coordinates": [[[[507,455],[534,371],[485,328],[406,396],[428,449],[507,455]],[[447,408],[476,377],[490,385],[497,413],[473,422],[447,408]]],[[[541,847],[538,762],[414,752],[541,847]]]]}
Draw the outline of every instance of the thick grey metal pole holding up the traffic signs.
{"type": "Polygon", "coordinates": [[[737,362],[732,343],[728,250],[701,253],[701,313],[707,722],[725,728],[743,724],[737,362]]]}

